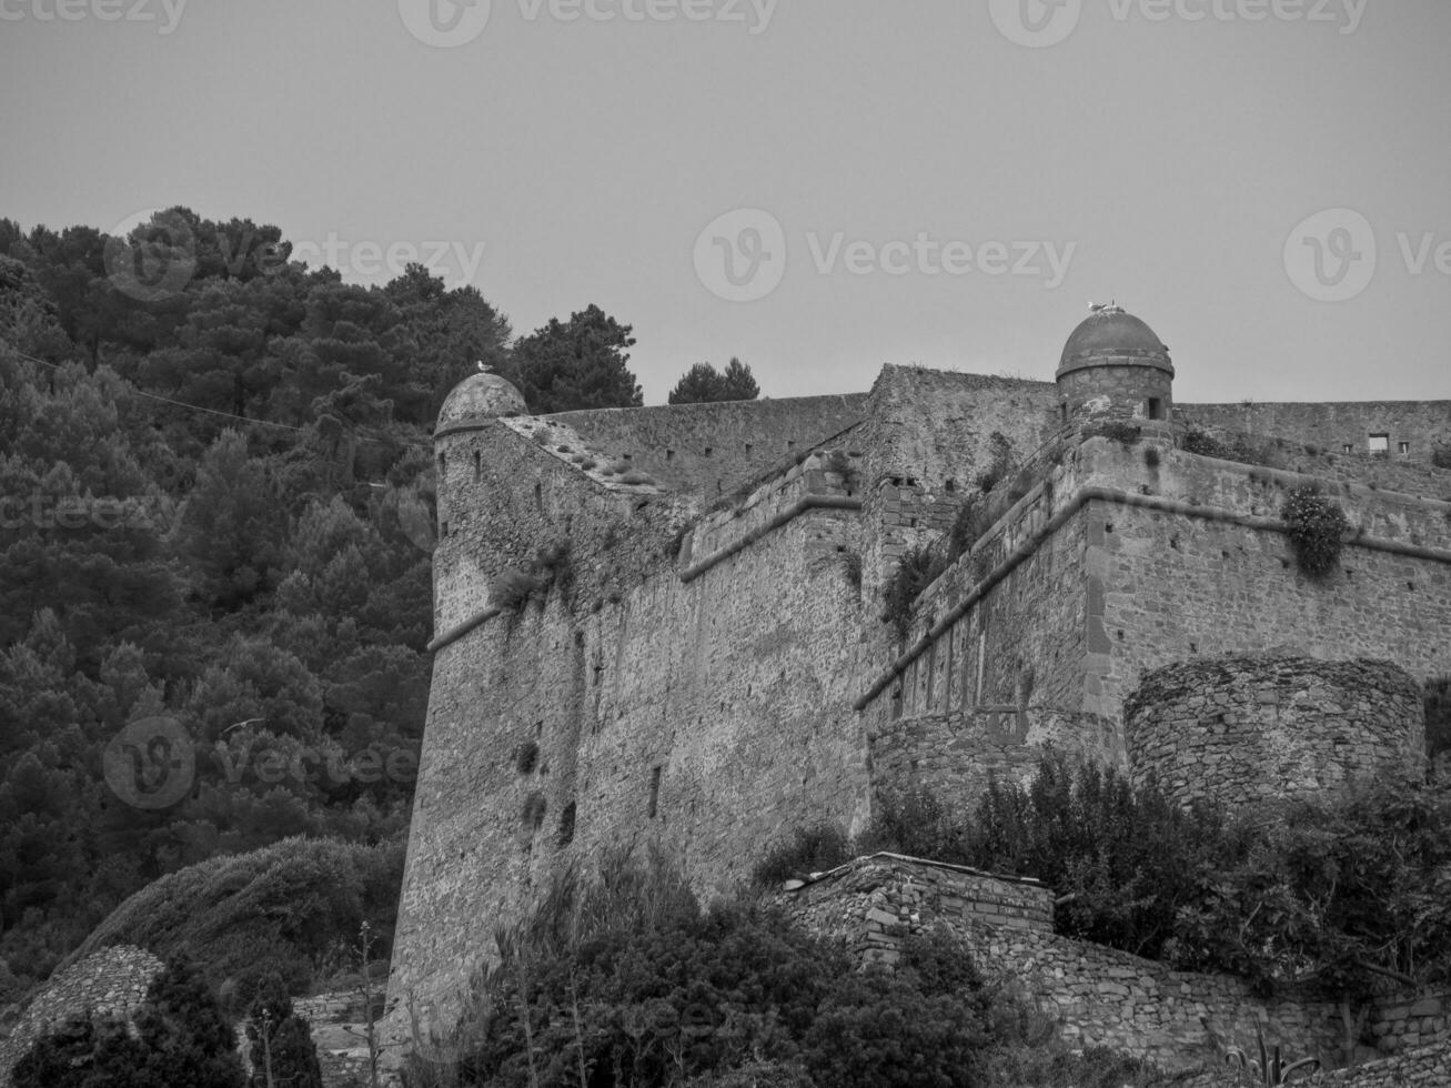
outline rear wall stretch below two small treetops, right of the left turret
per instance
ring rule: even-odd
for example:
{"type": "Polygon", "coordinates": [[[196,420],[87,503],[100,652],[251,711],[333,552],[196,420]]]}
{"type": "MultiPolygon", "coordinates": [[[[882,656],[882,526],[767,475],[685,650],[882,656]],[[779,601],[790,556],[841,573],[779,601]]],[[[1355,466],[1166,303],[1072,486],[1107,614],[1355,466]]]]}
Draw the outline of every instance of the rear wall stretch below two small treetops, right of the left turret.
{"type": "Polygon", "coordinates": [[[546,419],[573,428],[593,456],[628,461],[667,490],[711,502],[860,422],[866,396],[598,408],[546,419]]]}

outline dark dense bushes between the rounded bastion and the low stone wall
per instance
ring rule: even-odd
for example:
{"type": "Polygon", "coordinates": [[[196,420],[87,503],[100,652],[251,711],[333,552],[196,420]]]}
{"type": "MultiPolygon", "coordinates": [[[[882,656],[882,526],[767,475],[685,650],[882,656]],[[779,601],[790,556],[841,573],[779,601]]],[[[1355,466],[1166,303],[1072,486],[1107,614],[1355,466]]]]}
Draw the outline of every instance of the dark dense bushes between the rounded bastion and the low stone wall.
{"type": "Polygon", "coordinates": [[[1362,1001],[1451,982],[1451,782],[1386,776],[1315,801],[1180,809],[1155,785],[1046,756],[1027,786],[971,811],[927,791],[882,798],[856,841],[811,828],[776,844],[765,885],[891,850],[1040,879],[1062,936],[1362,1001]]]}

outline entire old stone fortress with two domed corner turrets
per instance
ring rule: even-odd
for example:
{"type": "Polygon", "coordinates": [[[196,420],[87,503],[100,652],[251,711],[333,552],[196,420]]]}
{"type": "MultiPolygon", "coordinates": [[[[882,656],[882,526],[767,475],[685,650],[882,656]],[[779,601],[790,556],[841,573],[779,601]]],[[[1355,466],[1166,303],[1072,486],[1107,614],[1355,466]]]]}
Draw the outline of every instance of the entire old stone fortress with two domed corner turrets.
{"type": "Polygon", "coordinates": [[[966,802],[1048,746],[1183,801],[1415,766],[1451,673],[1451,402],[1178,405],[1172,379],[1109,306],[1053,382],[888,366],[551,416],[463,382],[390,997],[447,1021],[570,859],[654,841],[708,895],[884,789],[966,802]],[[1283,512],[1307,487],[1349,522],[1316,576],[1283,512]]]}

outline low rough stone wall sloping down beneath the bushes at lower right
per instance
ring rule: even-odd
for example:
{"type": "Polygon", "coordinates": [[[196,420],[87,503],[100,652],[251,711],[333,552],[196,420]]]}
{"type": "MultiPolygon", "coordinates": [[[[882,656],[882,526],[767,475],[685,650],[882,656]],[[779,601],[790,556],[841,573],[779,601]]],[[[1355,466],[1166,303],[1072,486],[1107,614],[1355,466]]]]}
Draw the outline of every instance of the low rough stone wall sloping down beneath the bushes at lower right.
{"type": "Polygon", "coordinates": [[[874,854],[782,892],[786,910],[815,933],[844,937],[866,960],[894,963],[901,933],[946,926],[988,973],[1013,978],[1065,1040],[1149,1058],[1165,1069],[1223,1060],[1228,1046],[1252,1046],[1257,1030],[1296,1055],[1339,1053],[1339,1008],[1331,1002],[1267,1001],[1239,979],[1170,970],[1052,931],[1052,892],[898,854],[874,854]]]}

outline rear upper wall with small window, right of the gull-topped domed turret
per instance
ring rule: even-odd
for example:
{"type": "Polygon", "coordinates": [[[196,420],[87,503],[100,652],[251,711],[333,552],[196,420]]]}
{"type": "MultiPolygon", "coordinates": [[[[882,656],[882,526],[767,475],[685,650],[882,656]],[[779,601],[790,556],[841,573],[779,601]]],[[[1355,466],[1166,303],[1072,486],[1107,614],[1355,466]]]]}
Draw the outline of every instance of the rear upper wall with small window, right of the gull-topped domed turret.
{"type": "Polygon", "coordinates": [[[1332,454],[1370,453],[1371,435],[1386,435],[1393,458],[1429,461],[1436,445],[1451,447],[1451,400],[1178,405],[1175,416],[1181,424],[1280,437],[1332,454]],[[1399,453],[1402,442],[1406,454],[1399,453]]]}

